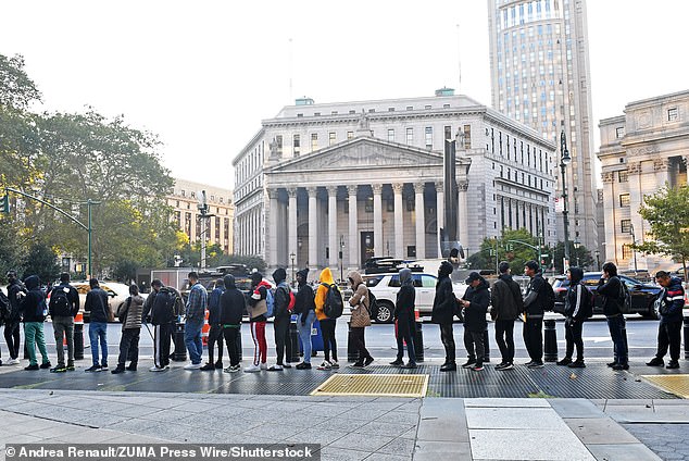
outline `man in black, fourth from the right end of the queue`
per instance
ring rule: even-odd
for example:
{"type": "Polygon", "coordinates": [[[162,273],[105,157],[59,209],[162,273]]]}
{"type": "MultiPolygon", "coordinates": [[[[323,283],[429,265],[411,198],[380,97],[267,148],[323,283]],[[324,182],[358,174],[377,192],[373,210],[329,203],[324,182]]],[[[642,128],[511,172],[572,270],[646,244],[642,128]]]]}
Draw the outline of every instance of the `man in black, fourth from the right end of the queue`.
{"type": "Polygon", "coordinates": [[[524,344],[531,358],[526,366],[529,369],[543,367],[543,314],[546,294],[546,279],[536,261],[527,261],[524,265],[524,275],[530,281],[524,297],[524,344]]]}

